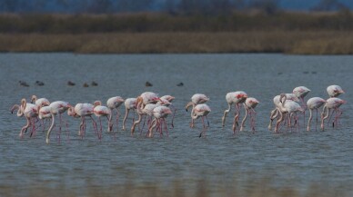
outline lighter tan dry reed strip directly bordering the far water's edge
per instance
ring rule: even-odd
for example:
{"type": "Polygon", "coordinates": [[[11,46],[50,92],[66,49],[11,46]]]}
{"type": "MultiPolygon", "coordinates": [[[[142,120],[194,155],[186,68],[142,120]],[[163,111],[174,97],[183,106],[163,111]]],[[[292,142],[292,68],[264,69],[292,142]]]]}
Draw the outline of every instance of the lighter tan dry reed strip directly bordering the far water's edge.
{"type": "Polygon", "coordinates": [[[353,54],[350,31],[0,34],[1,52],[353,54]]]}

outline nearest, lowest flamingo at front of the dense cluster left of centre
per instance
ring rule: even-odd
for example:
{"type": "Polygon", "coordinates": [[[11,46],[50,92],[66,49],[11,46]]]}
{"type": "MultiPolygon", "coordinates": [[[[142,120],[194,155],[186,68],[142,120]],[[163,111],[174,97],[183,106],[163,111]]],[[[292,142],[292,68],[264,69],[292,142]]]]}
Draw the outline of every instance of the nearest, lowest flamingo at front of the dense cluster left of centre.
{"type": "Polygon", "coordinates": [[[155,119],[152,121],[152,125],[148,129],[148,137],[153,137],[153,130],[155,127],[156,130],[159,129],[159,133],[162,135],[163,123],[165,124],[166,134],[168,134],[168,130],[166,128],[166,116],[171,113],[172,111],[166,106],[156,106],[153,109],[153,115],[155,116],[155,119]]]}

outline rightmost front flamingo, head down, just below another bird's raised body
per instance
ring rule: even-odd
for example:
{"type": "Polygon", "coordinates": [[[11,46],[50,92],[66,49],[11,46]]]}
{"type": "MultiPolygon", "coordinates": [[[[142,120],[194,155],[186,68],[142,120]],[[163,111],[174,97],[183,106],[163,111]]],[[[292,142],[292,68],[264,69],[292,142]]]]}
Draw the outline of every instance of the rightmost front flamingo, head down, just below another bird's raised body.
{"type": "MultiPolygon", "coordinates": [[[[336,117],[333,122],[333,126],[335,126],[335,123],[336,124],[338,123],[338,118],[342,114],[342,112],[338,109],[338,107],[344,103],[347,103],[347,102],[342,99],[336,98],[336,97],[332,97],[332,98],[329,98],[328,100],[326,100],[326,104],[324,105],[324,108],[322,109],[322,113],[321,113],[321,129],[322,130],[324,130],[324,122],[326,119],[328,119],[328,115],[331,110],[333,110],[332,114],[334,112],[336,112],[336,117]]],[[[332,114],[331,114],[331,117],[332,117],[332,114]]]]}

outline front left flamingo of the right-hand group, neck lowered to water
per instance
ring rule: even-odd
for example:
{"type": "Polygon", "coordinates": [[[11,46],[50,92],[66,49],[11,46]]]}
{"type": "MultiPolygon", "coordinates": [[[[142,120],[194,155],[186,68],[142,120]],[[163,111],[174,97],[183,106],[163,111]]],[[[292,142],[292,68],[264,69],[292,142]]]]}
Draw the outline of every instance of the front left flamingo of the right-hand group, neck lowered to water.
{"type": "Polygon", "coordinates": [[[287,100],[286,94],[280,94],[280,101],[281,101],[281,104],[277,105],[277,111],[280,117],[276,123],[275,133],[278,132],[279,124],[284,121],[284,114],[286,113],[289,114],[289,125],[291,125],[290,120],[293,113],[304,112],[304,109],[297,102],[287,100]],[[283,98],[284,98],[284,101],[282,101],[283,98]]]}

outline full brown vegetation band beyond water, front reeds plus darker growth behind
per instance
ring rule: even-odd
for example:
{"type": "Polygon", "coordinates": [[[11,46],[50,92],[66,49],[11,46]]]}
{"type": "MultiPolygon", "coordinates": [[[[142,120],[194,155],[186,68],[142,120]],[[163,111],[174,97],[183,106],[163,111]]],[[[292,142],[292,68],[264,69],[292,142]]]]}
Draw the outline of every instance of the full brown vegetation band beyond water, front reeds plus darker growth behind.
{"type": "Polygon", "coordinates": [[[1,52],[353,54],[353,15],[0,15],[1,52]]]}

